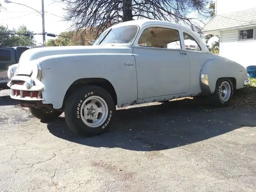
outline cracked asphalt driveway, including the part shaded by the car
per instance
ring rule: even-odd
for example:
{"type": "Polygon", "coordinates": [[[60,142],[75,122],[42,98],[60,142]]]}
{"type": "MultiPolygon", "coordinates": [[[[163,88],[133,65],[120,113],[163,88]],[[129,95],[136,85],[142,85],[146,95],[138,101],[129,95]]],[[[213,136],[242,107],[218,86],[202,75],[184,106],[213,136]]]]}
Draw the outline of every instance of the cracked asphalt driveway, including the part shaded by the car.
{"type": "Polygon", "coordinates": [[[256,110],[194,100],[117,110],[106,134],[43,123],[0,91],[0,190],[256,191],[256,110]]]}

